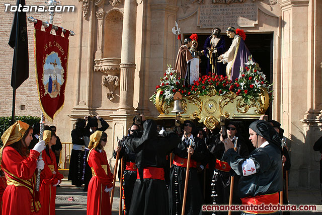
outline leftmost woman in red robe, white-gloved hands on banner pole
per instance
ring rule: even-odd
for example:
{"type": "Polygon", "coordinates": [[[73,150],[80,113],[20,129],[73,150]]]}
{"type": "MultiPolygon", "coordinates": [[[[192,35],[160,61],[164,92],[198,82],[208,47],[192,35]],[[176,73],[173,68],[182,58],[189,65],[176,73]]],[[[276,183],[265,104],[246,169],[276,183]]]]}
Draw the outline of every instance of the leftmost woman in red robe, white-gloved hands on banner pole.
{"type": "Polygon", "coordinates": [[[45,149],[45,141],[39,141],[28,155],[32,131],[27,123],[17,121],[1,137],[4,146],[0,149],[0,165],[8,184],[3,195],[2,214],[29,215],[40,209],[35,172],[36,168],[44,168],[44,162],[37,158],[45,149]]]}

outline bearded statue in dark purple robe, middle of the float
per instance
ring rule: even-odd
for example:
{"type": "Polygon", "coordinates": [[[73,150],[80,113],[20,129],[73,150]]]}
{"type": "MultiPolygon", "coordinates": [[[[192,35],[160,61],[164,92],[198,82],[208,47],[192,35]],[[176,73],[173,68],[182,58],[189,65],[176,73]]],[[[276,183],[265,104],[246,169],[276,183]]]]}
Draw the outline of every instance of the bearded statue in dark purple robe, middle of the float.
{"type": "Polygon", "coordinates": [[[207,70],[202,75],[226,76],[226,65],[217,61],[217,57],[226,50],[225,39],[220,35],[220,32],[220,28],[212,29],[211,36],[206,39],[203,46],[203,53],[207,57],[207,70]]]}

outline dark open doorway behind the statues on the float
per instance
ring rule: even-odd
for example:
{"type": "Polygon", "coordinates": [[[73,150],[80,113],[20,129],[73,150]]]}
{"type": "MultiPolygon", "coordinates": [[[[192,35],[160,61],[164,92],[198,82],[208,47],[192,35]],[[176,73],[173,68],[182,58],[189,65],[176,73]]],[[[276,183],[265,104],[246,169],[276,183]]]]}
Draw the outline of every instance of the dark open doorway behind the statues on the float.
{"type": "MultiPolygon", "coordinates": [[[[206,42],[208,35],[198,34],[198,50],[203,50],[203,45],[206,42]]],[[[189,37],[191,34],[185,35],[189,37]]],[[[226,34],[221,34],[224,36],[226,41],[226,51],[229,49],[232,39],[226,34]]],[[[266,75],[266,80],[270,83],[273,82],[273,33],[265,34],[246,34],[245,44],[250,50],[254,60],[260,65],[263,73],[266,75]]],[[[203,75],[206,75],[203,71],[206,70],[206,60],[205,56],[201,56],[200,71],[203,75]]],[[[272,104],[270,104],[269,109],[266,114],[271,119],[272,117],[272,104]]]]}

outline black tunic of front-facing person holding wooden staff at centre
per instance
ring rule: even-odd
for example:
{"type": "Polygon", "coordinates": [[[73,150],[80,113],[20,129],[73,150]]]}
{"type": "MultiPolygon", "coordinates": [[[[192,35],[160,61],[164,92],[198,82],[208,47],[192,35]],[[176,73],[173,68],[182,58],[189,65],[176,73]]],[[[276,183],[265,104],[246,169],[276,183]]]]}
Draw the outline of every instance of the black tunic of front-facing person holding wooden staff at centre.
{"type": "MultiPolygon", "coordinates": [[[[181,141],[178,147],[174,150],[174,154],[180,158],[188,158],[186,141],[181,141]]],[[[194,153],[191,159],[196,162],[203,163],[206,157],[206,145],[204,141],[198,137],[194,137],[193,146],[194,153]]],[[[177,165],[172,165],[170,170],[170,184],[169,184],[169,205],[170,214],[181,214],[182,202],[185,188],[186,168],[177,165]],[[178,184],[176,184],[176,176],[178,184]]],[[[201,186],[198,179],[197,168],[189,169],[189,180],[187,189],[187,200],[185,207],[185,214],[201,214],[201,205],[203,203],[203,196],[201,186]]]]}

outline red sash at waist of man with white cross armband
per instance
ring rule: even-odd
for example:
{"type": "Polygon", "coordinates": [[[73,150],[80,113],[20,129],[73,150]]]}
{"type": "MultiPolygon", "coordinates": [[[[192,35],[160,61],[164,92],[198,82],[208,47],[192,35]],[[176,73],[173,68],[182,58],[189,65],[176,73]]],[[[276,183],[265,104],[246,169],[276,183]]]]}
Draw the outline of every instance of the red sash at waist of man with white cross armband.
{"type": "MultiPolygon", "coordinates": [[[[253,205],[261,205],[261,204],[277,205],[279,203],[279,194],[278,194],[278,192],[276,192],[273,194],[257,195],[254,197],[246,197],[246,198],[240,198],[240,199],[241,199],[241,203],[247,204],[247,205],[251,205],[251,204],[253,204],[253,205]]],[[[275,212],[275,210],[272,210],[272,211],[252,210],[252,211],[245,211],[245,212],[247,212],[247,213],[272,213],[272,212],[275,212]]]]}

